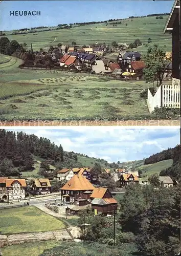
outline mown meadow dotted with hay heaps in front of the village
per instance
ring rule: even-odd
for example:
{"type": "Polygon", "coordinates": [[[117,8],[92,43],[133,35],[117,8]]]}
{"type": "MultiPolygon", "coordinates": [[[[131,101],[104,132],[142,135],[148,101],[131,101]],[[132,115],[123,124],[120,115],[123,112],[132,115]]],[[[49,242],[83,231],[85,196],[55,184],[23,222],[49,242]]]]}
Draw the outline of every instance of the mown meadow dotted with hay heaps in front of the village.
{"type": "Polygon", "coordinates": [[[2,84],[0,110],[3,120],[145,117],[149,111],[140,92],[148,87],[144,81],[80,74],[19,80],[2,84]]]}

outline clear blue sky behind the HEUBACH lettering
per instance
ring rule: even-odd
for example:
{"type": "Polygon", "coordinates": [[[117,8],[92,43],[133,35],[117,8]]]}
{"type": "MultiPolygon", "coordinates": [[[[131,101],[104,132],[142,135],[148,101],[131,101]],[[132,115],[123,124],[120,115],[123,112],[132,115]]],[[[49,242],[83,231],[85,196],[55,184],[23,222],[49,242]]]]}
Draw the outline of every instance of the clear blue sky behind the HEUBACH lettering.
{"type": "Polygon", "coordinates": [[[102,21],[152,13],[170,13],[172,0],[0,1],[0,30],[102,21]],[[10,16],[10,11],[40,11],[40,16],[10,16]]]}

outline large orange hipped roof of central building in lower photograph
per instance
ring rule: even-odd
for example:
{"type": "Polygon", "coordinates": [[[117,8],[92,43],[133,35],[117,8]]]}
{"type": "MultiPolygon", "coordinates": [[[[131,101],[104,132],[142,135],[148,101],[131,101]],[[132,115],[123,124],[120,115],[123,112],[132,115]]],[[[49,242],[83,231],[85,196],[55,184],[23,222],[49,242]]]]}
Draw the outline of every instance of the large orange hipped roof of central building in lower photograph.
{"type": "Polygon", "coordinates": [[[61,190],[94,190],[94,186],[82,175],[74,175],[61,190]]]}

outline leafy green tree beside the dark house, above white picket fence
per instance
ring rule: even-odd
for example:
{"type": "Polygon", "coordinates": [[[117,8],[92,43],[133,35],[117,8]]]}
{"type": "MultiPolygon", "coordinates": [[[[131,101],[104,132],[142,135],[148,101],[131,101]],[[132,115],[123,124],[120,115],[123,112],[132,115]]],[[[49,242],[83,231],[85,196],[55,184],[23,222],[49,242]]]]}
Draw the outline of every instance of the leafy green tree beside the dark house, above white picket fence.
{"type": "Polygon", "coordinates": [[[166,71],[166,67],[169,63],[166,60],[166,52],[159,49],[157,45],[150,47],[147,54],[143,57],[146,68],[144,69],[144,78],[147,82],[153,82],[155,78],[159,79],[160,85],[166,71]]]}

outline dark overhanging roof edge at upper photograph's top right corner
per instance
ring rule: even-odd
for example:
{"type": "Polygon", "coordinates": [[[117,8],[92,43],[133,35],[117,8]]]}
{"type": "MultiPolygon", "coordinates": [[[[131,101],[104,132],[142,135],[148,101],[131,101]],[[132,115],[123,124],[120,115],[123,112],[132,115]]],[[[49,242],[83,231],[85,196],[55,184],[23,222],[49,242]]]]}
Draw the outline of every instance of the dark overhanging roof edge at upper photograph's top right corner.
{"type": "Polygon", "coordinates": [[[172,9],[171,9],[171,12],[170,12],[170,15],[169,15],[169,17],[168,17],[168,19],[167,19],[167,22],[166,22],[166,25],[165,25],[165,28],[164,28],[164,34],[166,33],[166,32],[171,32],[172,31],[172,29],[173,29],[173,23],[174,23],[174,20],[175,20],[175,17],[176,17],[176,15],[177,15],[177,13],[178,13],[178,8],[180,8],[179,7],[179,0],[176,0],[175,2],[174,2],[174,4],[173,4],[173,7],[172,7],[172,9]]]}

